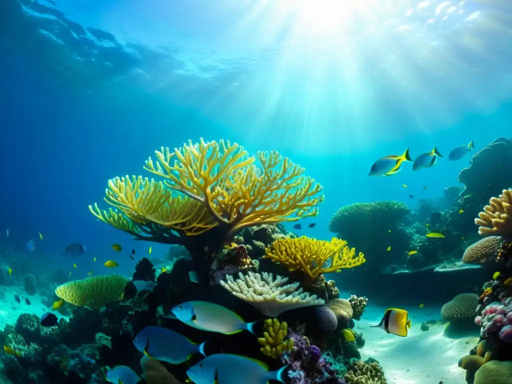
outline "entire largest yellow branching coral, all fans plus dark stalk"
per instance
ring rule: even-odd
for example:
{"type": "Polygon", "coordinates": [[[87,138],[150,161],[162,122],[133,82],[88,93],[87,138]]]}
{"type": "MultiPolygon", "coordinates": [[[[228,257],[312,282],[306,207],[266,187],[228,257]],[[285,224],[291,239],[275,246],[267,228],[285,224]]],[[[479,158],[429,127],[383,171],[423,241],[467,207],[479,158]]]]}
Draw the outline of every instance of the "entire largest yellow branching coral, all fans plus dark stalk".
{"type": "Polygon", "coordinates": [[[142,176],[108,183],[105,201],[114,209],[89,206],[99,220],[138,240],[184,245],[203,277],[222,246],[243,228],[315,216],[322,186],[304,168],[276,151],[250,156],[244,147],[219,140],[161,148],[142,176]],[[258,159],[260,166],[254,164],[258,159]]]}

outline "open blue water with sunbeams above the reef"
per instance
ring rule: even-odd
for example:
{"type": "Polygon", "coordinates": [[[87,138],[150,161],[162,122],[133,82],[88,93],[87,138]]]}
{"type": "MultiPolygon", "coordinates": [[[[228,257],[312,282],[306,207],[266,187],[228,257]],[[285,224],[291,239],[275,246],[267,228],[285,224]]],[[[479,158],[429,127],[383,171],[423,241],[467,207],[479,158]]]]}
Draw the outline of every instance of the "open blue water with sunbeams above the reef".
{"type": "MultiPolygon", "coordinates": [[[[337,208],[442,197],[470,159],[370,178],[379,157],[407,147],[415,157],[434,145],[447,156],[470,140],[479,150],[510,136],[510,5],[468,2],[443,24],[441,2],[429,14],[396,1],[385,15],[367,1],[352,18],[347,9],[333,20],[326,15],[334,11],[305,20],[311,10],[275,3],[3,0],[0,244],[32,268],[68,268],[60,254],[79,242],[128,272],[125,252],[111,245],[141,256],[150,244],[98,223],[87,206],[106,208],[108,179],[151,177],[147,157],[188,139],[278,150],[304,166],[326,195],[304,233],[329,239],[337,208]]],[[[152,245],[154,255],[167,250],[152,245]]],[[[94,268],[91,258],[82,264],[76,278],[94,268]]]]}

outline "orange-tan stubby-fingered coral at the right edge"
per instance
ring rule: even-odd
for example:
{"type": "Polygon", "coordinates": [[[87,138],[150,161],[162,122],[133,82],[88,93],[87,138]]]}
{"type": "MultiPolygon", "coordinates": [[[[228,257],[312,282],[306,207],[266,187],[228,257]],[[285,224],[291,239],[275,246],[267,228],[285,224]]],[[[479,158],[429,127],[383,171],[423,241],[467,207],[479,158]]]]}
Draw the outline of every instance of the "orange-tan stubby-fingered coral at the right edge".
{"type": "Polygon", "coordinates": [[[490,198],[489,205],[478,214],[475,224],[481,235],[501,236],[512,239],[512,189],[503,189],[502,194],[490,198]]]}

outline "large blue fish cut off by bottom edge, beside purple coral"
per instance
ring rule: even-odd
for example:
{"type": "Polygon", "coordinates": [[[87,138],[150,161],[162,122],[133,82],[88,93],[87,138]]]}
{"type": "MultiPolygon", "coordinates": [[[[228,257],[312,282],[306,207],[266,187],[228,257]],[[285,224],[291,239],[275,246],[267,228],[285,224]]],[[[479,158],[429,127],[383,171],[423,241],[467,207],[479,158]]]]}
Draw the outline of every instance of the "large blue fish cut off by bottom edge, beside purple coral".
{"type": "Polygon", "coordinates": [[[287,366],[269,371],[263,362],[245,356],[218,353],[199,361],[187,370],[196,384],[267,384],[269,380],[285,382],[287,366]]]}

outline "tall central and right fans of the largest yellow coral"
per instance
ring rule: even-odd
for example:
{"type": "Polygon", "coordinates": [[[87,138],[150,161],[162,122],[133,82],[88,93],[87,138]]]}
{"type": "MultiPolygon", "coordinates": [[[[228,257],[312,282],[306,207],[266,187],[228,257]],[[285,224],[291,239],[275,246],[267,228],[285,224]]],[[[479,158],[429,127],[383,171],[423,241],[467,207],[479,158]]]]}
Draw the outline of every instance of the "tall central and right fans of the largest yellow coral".
{"type": "Polygon", "coordinates": [[[155,153],[158,160],[149,158],[144,168],[203,203],[219,223],[230,227],[228,236],[252,225],[315,216],[324,200],[322,186],[275,151],[258,152],[261,168],[242,146],[224,140],[189,141],[174,152],[162,147],[155,153]]]}

